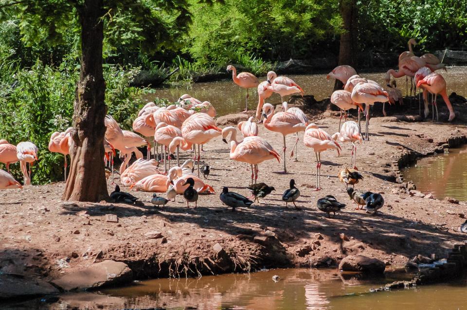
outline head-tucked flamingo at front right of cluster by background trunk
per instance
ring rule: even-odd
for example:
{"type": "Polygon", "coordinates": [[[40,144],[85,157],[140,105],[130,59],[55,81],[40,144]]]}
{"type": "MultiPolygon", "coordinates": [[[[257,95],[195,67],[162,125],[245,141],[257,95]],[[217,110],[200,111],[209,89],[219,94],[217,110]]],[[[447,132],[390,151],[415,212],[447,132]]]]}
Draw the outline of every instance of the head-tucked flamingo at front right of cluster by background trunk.
{"type": "Polygon", "coordinates": [[[368,124],[370,121],[370,105],[375,104],[375,102],[389,101],[388,93],[379,85],[360,83],[352,90],[351,98],[355,103],[365,103],[366,139],[369,140],[368,124]]]}

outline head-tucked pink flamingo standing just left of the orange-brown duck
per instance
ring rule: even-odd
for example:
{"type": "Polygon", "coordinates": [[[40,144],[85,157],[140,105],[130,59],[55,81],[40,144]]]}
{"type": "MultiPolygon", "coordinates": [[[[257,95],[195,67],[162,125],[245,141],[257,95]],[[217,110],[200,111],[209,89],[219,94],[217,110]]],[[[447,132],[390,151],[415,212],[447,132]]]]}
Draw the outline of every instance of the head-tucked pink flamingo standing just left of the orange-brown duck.
{"type": "Polygon", "coordinates": [[[321,152],[325,150],[334,149],[337,150],[337,155],[340,155],[339,150],[341,146],[339,143],[333,140],[333,138],[320,129],[316,124],[311,123],[305,129],[305,135],[303,137],[303,143],[306,147],[313,149],[316,155],[316,189],[321,189],[321,152]]]}

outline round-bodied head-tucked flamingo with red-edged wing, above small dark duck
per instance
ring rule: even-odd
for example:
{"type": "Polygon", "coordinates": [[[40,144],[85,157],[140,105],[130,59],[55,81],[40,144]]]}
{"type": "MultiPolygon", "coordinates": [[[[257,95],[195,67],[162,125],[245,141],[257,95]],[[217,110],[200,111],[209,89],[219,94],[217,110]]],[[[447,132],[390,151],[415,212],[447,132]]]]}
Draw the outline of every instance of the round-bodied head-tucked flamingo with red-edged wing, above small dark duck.
{"type": "MultiPolygon", "coordinates": [[[[183,139],[191,144],[198,145],[198,177],[199,177],[199,145],[209,142],[220,136],[222,129],[216,127],[214,120],[206,113],[196,113],[186,119],[181,126],[183,139]]],[[[196,157],[196,150],[195,150],[196,157]]]]}

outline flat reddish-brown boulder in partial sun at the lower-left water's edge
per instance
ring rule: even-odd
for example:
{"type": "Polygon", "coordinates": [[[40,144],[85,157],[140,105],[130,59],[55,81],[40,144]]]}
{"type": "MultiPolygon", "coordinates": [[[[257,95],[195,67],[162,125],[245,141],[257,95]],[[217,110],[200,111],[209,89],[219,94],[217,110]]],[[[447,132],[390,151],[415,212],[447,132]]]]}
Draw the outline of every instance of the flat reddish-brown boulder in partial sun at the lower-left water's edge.
{"type": "Polygon", "coordinates": [[[104,260],[52,281],[65,291],[88,290],[131,281],[133,272],[126,263],[104,260]]]}

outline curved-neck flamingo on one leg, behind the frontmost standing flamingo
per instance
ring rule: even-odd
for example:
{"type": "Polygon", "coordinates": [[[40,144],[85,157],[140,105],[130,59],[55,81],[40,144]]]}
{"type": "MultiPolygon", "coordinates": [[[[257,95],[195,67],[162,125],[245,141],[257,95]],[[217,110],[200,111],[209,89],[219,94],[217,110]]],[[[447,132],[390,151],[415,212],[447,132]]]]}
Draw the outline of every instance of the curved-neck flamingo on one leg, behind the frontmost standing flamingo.
{"type": "Polygon", "coordinates": [[[286,136],[300,131],[304,131],[306,125],[295,114],[290,112],[278,112],[274,114],[274,107],[270,103],[263,105],[263,116],[265,118],[264,127],[270,131],[282,134],[284,141],[284,172],[286,168],[286,136]]]}

